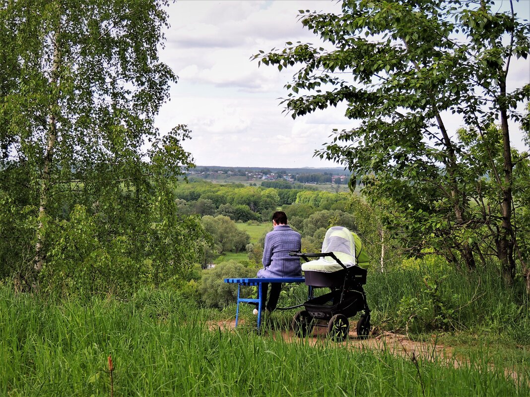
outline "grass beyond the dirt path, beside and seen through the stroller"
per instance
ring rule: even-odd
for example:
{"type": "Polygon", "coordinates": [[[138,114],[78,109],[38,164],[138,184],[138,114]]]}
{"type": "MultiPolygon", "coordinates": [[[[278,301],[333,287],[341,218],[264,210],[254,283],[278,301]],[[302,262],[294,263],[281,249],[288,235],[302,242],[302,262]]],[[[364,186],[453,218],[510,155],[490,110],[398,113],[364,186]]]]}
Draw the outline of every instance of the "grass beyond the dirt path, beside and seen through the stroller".
{"type": "MultiPolygon", "coordinates": [[[[322,288],[316,294],[326,291],[322,288]]],[[[485,361],[497,361],[509,371],[529,367],[530,301],[520,280],[507,288],[494,269],[480,269],[472,274],[428,268],[369,271],[365,291],[375,335],[381,331],[407,333],[411,339],[429,343],[435,339],[438,344],[452,346],[462,359],[481,357],[485,361]],[[433,329],[421,323],[408,327],[407,319],[413,313],[402,310],[403,301],[416,298],[418,308],[433,310],[424,276],[438,281],[441,298],[454,303],[455,310],[449,319],[451,327],[447,329],[433,329]]],[[[304,285],[285,287],[279,305],[304,302],[306,294],[304,285]]],[[[275,320],[281,327],[288,327],[293,313],[275,313],[275,320]]],[[[350,319],[350,327],[355,327],[357,319],[358,316],[350,319]]]]}

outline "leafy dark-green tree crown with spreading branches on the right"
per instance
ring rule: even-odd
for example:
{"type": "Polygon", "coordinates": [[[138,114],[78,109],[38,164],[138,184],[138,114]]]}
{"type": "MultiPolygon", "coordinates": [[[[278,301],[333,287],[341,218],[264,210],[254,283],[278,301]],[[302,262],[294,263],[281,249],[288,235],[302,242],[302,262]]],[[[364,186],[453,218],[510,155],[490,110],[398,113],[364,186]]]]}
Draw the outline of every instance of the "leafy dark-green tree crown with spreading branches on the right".
{"type": "Polygon", "coordinates": [[[325,48],[288,42],[253,59],[300,66],[285,86],[293,118],[346,105],[354,128],[335,131],[316,155],[345,164],[371,204],[384,201],[387,229],[411,251],[434,247],[471,269],[493,254],[511,284],[525,246],[512,205],[525,155],[510,148],[508,120],[526,120],[530,84],[508,92],[506,82],[510,60],[527,58],[530,24],[497,10],[488,0],[344,1],[337,15],[301,10],[325,48]]]}

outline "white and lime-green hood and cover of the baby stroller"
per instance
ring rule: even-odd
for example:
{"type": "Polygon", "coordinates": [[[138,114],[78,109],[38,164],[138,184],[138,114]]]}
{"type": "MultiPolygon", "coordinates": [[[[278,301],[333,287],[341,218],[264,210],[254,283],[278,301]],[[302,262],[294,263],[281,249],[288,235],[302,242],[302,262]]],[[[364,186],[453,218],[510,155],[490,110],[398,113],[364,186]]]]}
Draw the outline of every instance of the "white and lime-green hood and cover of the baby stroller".
{"type": "MultiPolygon", "coordinates": [[[[359,236],[343,226],[333,226],[328,229],[322,243],[322,252],[333,252],[346,267],[357,265],[366,269],[369,265],[368,255],[363,249],[359,236]]],[[[337,272],[342,270],[342,266],[333,258],[326,256],[304,263],[302,270],[337,272]]]]}

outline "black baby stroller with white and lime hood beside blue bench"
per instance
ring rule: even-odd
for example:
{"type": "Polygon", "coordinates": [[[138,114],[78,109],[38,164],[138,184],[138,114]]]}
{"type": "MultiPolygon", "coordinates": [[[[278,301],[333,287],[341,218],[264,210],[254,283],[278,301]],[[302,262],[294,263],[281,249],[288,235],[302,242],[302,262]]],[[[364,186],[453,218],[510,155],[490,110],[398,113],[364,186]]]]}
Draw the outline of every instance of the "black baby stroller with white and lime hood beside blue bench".
{"type": "Polygon", "coordinates": [[[306,260],[302,265],[305,284],[313,287],[304,302],[305,310],[293,318],[296,335],[309,335],[314,326],[327,327],[329,337],[342,341],[348,336],[348,318],[363,312],[357,322],[357,335],[363,339],[368,337],[370,309],[363,289],[368,256],[359,237],[345,227],[334,226],[325,234],[321,253],[290,252],[289,255],[306,260]],[[314,297],[314,288],[320,287],[328,287],[331,292],[314,297]]]}

